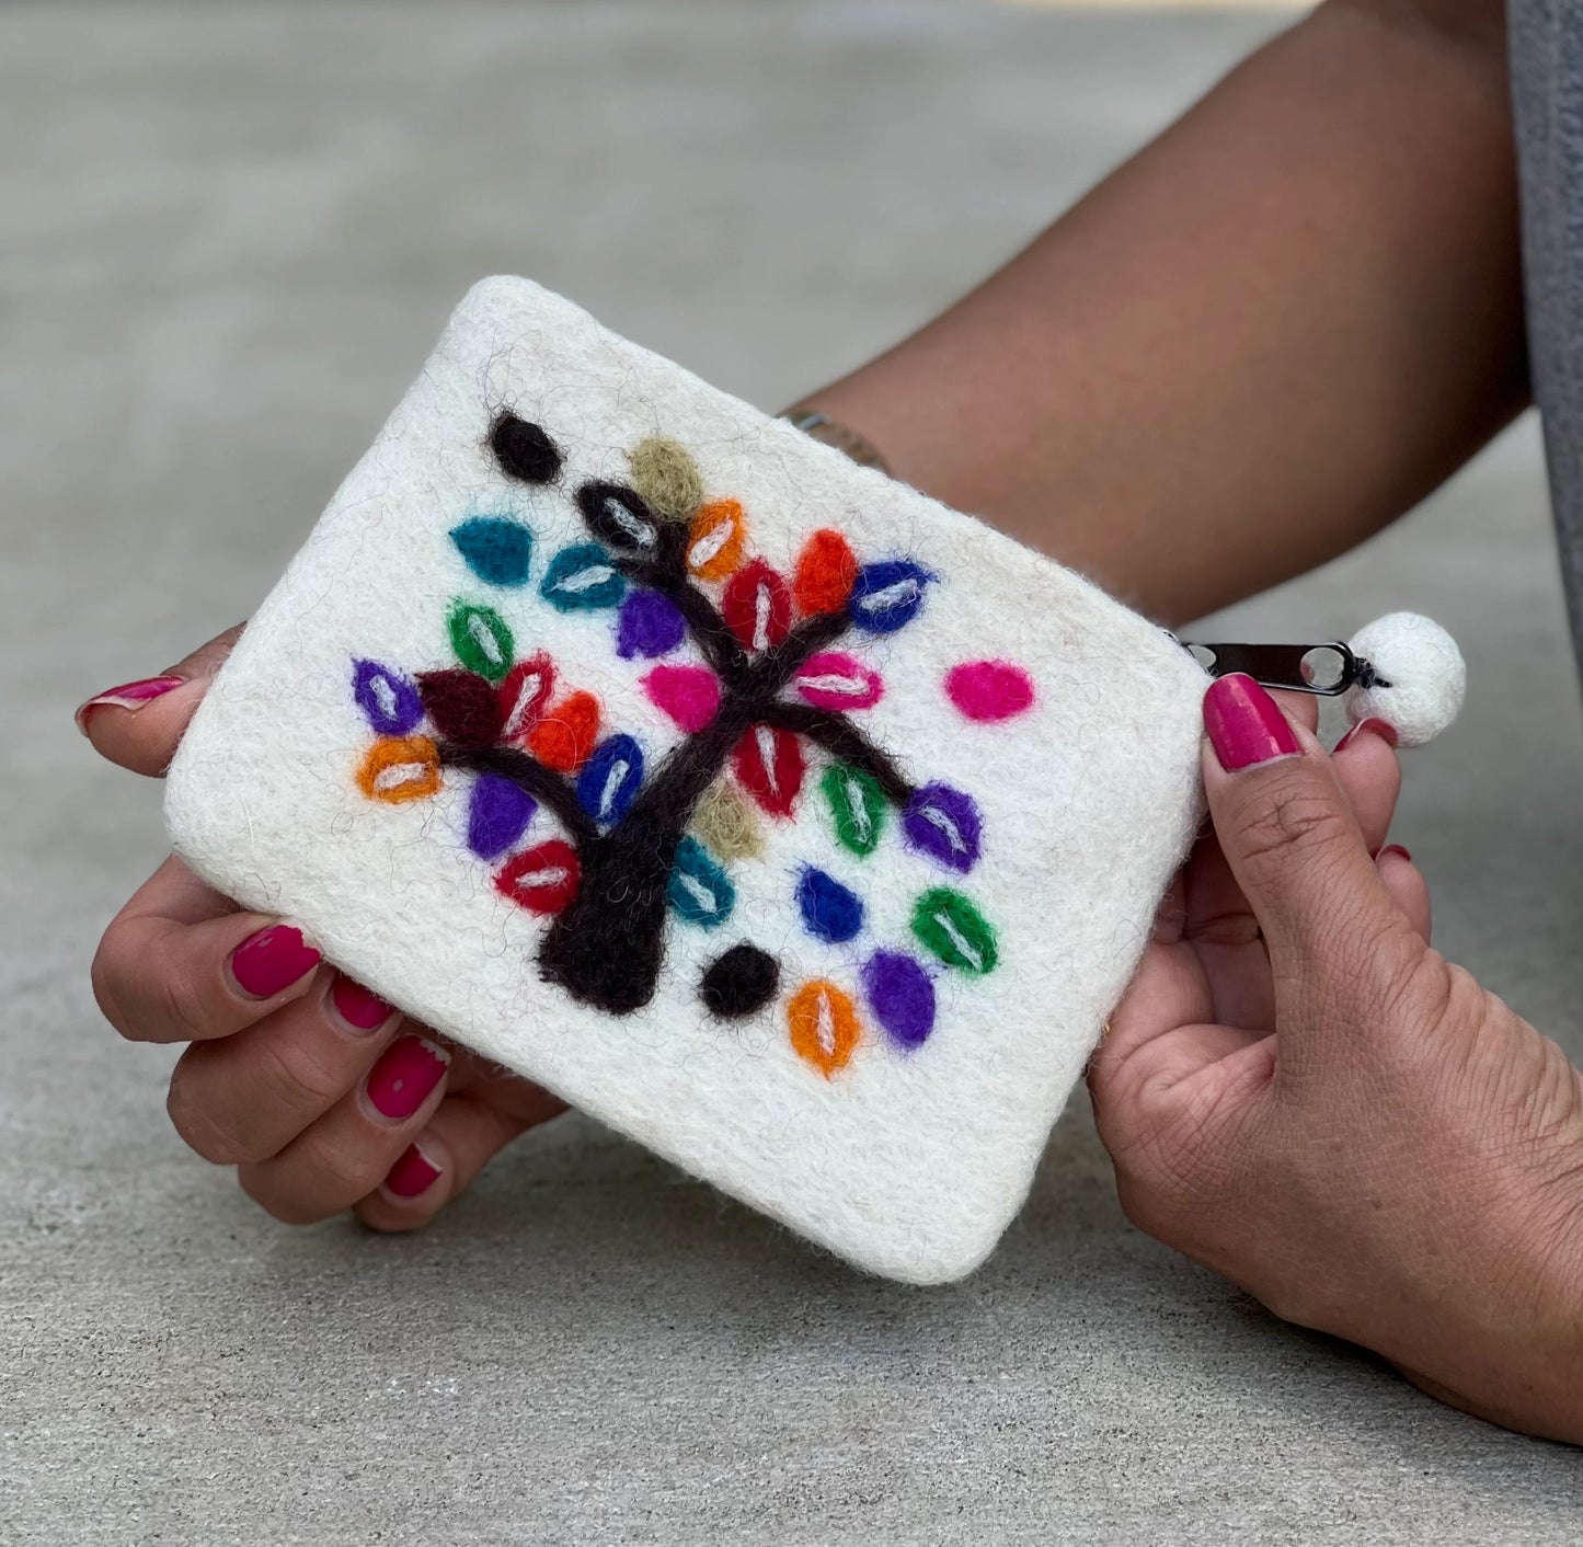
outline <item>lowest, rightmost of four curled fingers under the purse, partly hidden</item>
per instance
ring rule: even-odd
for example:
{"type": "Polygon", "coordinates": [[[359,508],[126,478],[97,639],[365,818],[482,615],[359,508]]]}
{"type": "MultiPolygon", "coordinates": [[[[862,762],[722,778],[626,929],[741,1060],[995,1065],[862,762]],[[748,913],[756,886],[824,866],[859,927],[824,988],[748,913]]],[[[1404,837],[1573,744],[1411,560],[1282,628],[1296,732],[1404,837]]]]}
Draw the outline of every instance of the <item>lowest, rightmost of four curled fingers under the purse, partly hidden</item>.
{"type": "Polygon", "coordinates": [[[416,1230],[427,1224],[511,1140],[565,1112],[548,1091],[524,1089],[537,1091],[537,1104],[514,1104],[511,1110],[472,1096],[446,1096],[380,1186],[358,1203],[358,1218],[372,1230],[416,1230]]]}

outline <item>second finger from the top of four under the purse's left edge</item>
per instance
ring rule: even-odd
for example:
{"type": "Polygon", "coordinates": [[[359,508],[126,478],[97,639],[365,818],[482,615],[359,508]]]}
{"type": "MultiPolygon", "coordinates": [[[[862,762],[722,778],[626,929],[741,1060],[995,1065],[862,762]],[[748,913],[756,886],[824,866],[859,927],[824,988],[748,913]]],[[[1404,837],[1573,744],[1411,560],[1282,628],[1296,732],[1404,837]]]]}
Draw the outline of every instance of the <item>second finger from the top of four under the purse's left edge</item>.
{"type": "Polygon", "coordinates": [[[351,1091],[396,1040],[400,1017],[339,972],[231,1037],[195,1042],[171,1074],[166,1110],[215,1165],[266,1161],[351,1091]]]}

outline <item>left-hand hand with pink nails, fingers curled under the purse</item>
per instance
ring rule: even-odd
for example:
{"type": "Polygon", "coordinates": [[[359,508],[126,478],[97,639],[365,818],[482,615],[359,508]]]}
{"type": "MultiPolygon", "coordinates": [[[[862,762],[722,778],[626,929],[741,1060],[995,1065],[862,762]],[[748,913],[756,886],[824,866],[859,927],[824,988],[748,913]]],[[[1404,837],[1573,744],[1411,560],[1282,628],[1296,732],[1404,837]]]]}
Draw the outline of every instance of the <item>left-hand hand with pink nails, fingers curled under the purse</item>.
{"type": "MultiPolygon", "coordinates": [[[[78,711],[114,763],[163,774],[241,629],[78,711]]],[[[241,910],[177,858],[116,915],[93,993],[133,1042],[187,1042],[166,1107],[206,1161],[277,1219],[348,1208],[377,1230],[431,1219],[562,1102],[405,1020],[325,964],[290,920],[241,910]]]]}

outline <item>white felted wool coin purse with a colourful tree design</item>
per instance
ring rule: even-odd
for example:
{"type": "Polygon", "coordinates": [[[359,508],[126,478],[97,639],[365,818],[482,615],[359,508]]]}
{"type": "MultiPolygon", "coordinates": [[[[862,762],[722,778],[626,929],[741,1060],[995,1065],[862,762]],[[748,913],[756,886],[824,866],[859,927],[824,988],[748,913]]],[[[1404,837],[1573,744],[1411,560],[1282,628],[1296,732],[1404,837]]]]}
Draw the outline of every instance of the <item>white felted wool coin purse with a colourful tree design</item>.
{"type": "Polygon", "coordinates": [[[853,1264],[969,1271],[1198,814],[1203,668],[519,279],[215,679],[176,850],[853,1264]]]}

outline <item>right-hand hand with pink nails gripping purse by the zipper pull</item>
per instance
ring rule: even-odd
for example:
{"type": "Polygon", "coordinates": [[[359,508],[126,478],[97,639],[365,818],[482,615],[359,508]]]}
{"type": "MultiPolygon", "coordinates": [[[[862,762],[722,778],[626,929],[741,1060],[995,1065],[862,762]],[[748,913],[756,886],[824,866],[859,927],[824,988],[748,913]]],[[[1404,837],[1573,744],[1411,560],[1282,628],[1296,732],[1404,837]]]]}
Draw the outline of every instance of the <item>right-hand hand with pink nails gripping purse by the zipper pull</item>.
{"type": "Polygon", "coordinates": [[[1089,1070],[1127,1216],[1455,1406],[1583,1442],[1583,1077],[1429,948],[1388,728],[1205,700],[1214,836],[1089,1070]],[[1379,850],[1377,858],[1374,852],[1379,850]]]}

